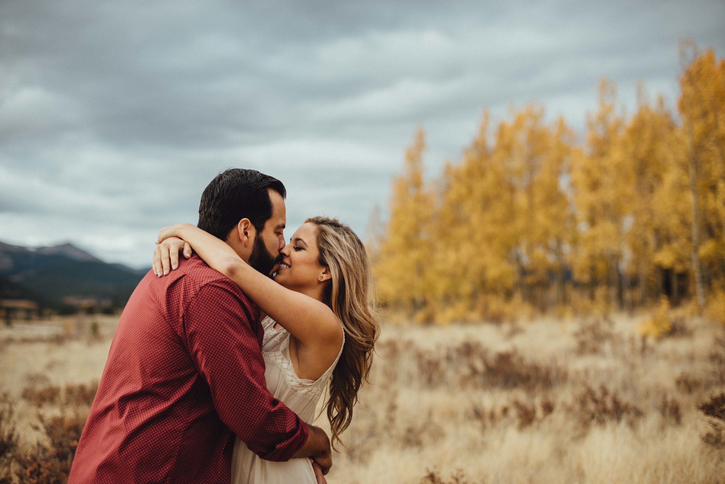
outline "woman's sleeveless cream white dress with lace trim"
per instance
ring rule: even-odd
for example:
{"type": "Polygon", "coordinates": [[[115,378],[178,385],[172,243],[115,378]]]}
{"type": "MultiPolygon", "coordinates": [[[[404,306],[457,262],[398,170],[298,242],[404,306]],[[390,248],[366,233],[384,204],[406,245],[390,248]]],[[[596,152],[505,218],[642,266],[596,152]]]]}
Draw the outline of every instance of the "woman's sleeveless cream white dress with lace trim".
{"type": "MultiPolygon", "coordinates": [[[[262,340],[262,356],[265,359],[265,378],[272,395],[299,415],[305,422],[315,420],[315,408],[322,396],[332,370],[340,359],[342,346],[334,363],[317,380],[298,378],[289,357],[289,332],[270,318],[262,320],[265,335],[262,340]]],[[[247,444],[236,438],[231,460],[232,484],[317,484],[310,459],[293,458],[287,462],[270,462],[250,451],[247,444]]]]}

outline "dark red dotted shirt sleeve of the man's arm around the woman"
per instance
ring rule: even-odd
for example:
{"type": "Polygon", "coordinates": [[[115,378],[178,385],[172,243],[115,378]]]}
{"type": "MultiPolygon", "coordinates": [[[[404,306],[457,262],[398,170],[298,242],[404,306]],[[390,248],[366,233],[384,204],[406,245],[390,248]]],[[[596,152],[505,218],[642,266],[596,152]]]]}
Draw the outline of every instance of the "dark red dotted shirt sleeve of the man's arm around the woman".
{"type": "Polygon", "coordinates": [[[309,430],[268,391],[251,320],[248,306],[225,281],[208,283],[183,315],[188,350],[222,422],[262,459],[286,461],[305,444],[309,430]]]}

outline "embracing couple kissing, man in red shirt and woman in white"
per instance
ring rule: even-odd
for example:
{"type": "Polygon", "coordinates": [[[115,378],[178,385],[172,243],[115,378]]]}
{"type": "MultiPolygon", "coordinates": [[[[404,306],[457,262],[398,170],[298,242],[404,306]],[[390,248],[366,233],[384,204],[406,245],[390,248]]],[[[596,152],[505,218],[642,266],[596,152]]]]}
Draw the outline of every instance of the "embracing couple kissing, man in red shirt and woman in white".
{"type": "Polygon", "coordinates": [[[68,483],[323,483],[379,328],[355,232],[230,169],[159,231],[121,314],[68,483]],[[181,256],[180,256],[181,254],[181,256]],[[322,396],[331,440],[315,420],[322,396]]]}

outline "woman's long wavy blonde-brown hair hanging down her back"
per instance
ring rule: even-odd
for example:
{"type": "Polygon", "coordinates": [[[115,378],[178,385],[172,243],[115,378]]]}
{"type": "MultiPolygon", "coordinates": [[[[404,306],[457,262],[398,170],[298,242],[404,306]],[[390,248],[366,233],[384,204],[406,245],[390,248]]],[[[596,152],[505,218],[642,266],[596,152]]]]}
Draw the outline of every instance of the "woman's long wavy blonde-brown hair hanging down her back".
{"type": "MultiPolygon", "coordinates": [[[[374,306],[373,277],[365,246],[355,232],[339,220],[312,217],[317,227],[319,262],[332,278],[323,291],[323,302],[342,322],[345,344],[325,402],[332,430],[332,446],[352,421],[357,392],[368,381],[373,349],[380,333],[374,306]]],[[[344,444],[343,444],[344,445],[344,444]]]]}

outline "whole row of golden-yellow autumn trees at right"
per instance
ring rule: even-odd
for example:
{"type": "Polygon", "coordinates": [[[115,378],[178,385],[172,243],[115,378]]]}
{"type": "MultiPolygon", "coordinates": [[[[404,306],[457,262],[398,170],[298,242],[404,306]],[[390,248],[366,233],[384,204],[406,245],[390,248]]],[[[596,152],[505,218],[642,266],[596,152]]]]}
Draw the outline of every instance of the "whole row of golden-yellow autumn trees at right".
{"type": "Polygon", "coordinates": [[[681,51],[679,119],[642,85],[626,116],[602,79],[582,143],[539,104],[495,127],[484,111],[463,159],[430,183],[419,128],[372,254],[384,306],[439,323],[606,314],[662,296],[718,306],[725,60],[687,41],[681,51]]]}

